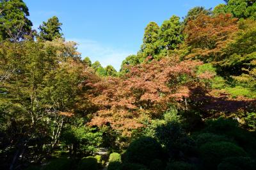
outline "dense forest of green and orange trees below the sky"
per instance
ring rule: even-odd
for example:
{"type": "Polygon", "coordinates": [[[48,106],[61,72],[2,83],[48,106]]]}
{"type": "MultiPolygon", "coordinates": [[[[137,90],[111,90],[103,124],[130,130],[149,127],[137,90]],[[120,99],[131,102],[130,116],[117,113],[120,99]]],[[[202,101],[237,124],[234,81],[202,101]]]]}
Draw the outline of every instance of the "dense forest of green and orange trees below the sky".
{"type": "Polygon", "coordinates": [[[255,0],[148,23],[118,71],[28,17],[0,0],[0,169],[256,169],[255,0]]]}

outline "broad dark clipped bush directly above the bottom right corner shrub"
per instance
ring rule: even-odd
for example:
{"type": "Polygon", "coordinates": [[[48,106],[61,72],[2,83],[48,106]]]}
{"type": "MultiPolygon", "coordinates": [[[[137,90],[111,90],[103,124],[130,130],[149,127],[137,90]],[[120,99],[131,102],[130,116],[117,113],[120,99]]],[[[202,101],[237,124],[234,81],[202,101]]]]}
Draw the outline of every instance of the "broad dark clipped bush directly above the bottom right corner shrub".
{"type": "Polygon", "coordinates": [[[207,169],[216,169],[224,158],[246,157],[246,152],[234,143],[206,143],[200,147],[200,155],[207,169]]]}

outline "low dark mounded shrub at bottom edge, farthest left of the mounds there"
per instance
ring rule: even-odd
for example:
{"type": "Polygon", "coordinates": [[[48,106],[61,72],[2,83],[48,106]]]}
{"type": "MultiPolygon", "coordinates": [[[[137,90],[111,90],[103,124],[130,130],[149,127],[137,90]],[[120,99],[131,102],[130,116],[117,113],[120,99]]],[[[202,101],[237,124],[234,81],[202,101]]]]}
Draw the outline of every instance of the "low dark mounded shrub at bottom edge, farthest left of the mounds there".
{"type": "Polygon", "coordinates": [[[43,167],[44,170],[69,170],[72,168],[72,160],[68,158],[57,158],[43,167]]]}

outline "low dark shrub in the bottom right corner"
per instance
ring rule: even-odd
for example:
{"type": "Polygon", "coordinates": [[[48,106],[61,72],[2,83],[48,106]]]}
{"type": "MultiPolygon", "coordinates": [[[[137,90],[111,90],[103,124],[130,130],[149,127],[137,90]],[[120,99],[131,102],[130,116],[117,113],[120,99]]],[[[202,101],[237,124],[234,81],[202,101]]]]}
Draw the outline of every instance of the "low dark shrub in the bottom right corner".
{"type": "Polygon", "coordinates": [[[256,169],[255,161],[248,157],[225,158],[218,166],[218,170],[256,169]]]}

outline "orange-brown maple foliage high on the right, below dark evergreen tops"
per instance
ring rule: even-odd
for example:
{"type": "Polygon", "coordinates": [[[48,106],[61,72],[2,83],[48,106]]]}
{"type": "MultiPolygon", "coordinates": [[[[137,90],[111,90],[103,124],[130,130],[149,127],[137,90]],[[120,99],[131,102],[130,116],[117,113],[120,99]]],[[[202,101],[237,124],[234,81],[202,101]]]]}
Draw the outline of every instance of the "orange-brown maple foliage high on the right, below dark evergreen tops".
{"type": "Polygon", "coordinates": [[[237,19],[230,14],[217,17],[201,14],[190,20],[184,33],[186,44],[192,48],[187,58],[200,58],[204,61],[217,61],[222,49],[232,41],[232,35],[238,30],[237,19]]]}

